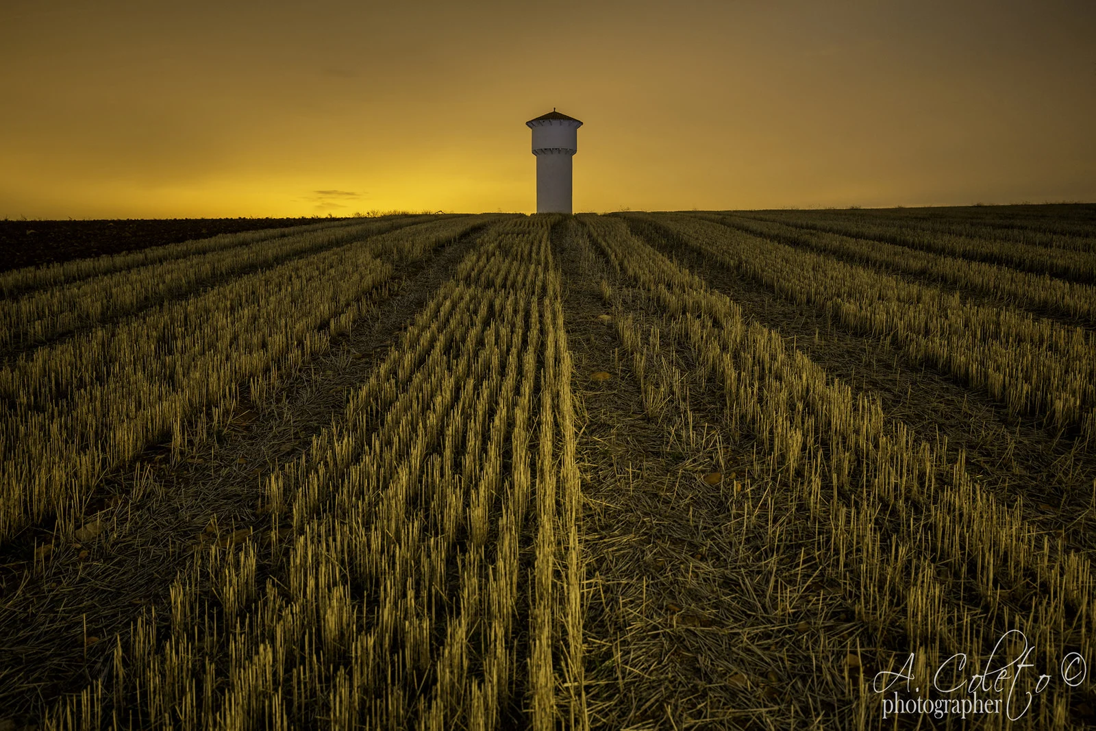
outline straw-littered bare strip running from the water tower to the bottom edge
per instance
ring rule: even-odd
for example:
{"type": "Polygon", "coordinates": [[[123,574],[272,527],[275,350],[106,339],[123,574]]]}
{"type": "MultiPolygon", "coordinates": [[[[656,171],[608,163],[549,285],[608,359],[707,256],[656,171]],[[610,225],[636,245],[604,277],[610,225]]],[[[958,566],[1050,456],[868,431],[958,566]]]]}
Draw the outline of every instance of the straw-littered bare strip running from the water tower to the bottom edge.
{"type": "Polygon", "coordinates": [[[553,245],[579,402],[591,727],[847,720],[855,676],[812,669],[867,638],[810,558],[813,529],[761,473],[753,439],[728,437],[713,384],[697,382],[684,354],[687,409],[648,413],[613,322],[600,319],[601,282],[617,276],[578,228],[557,230],[553,245]],[[609,378],[592,380],[598,372],[609,378]],[[704,481],[715,472],[718,484],[704,481]]]}

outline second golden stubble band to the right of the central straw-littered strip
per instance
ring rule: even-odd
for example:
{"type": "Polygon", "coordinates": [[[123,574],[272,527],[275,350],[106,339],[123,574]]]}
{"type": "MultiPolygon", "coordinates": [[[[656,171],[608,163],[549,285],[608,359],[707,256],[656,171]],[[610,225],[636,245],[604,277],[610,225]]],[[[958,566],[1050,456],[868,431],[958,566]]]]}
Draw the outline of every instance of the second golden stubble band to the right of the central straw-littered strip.
{"type": "Polygon", "coordinates": [[[690,216],[629,215],[915,363],[989,392],[1014,412],[1096,434],[1096,344],[1078,328],[963,302],[935,287],[846,264],[690,216]]]}

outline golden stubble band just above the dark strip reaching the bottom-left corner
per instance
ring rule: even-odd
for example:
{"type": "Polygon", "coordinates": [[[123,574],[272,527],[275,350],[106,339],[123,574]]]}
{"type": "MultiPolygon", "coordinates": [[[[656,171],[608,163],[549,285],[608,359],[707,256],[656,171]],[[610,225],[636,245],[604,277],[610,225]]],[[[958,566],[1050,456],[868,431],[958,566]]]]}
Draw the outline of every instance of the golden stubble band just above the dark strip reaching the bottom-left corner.
{"type": "Polygon", "coordinates": [[[0,368],[0,540],[56,513],[69,532],[104,472],[172,438],[207,409],[324,350],[384,296],[383,252],[421,258],[484,225],[397,230],[256,272],[199,296],[41,347],[0,368]]]}

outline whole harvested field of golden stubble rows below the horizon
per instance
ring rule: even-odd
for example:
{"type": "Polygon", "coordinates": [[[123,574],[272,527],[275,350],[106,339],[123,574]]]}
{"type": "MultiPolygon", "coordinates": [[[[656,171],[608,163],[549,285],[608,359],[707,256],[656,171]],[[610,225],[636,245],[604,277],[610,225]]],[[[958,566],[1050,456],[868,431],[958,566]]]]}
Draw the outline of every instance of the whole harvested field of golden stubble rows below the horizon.
{"type": "Polygon", "coordinates": [[[1096,209],[0,273],[0,730],[1096,726],[1096,209]]]}

